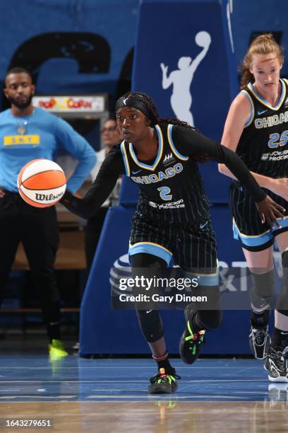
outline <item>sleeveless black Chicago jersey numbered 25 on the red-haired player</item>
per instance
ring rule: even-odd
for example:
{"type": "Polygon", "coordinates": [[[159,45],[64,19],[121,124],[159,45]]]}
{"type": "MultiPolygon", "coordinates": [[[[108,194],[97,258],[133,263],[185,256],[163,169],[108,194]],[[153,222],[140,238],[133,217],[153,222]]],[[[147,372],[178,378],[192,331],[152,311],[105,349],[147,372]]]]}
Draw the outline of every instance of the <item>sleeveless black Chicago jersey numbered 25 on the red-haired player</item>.
{"type": "Polygon", "coordinates": [[[280,79],[282,93],[275,107],[263,99],[251,83],[242,93],[251,103],[248,120],[236,149],[246,166],[271,178],[288,175],[288,92],[287,80],[280,79]]]}

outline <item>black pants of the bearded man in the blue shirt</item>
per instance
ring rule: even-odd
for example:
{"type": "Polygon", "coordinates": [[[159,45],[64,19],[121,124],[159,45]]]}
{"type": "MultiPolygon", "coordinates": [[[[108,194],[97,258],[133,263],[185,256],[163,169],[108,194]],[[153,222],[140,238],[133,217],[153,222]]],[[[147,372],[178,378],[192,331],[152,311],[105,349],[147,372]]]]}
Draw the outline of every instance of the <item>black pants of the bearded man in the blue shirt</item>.
{"type": "Polygon", "coordinates": [[[59,338],[59,329],[53,328],[56,323],[59,325],[60,318],[59,292],[54,275],[59,245],[56,209],[32,207],[17,193],[6,192],[0,199],[0,303],[4,299],[6,282],[20,241],[39,294],[49,338],[59,338]],[[56,335],[52,335],[52,329],[56,335]]]}

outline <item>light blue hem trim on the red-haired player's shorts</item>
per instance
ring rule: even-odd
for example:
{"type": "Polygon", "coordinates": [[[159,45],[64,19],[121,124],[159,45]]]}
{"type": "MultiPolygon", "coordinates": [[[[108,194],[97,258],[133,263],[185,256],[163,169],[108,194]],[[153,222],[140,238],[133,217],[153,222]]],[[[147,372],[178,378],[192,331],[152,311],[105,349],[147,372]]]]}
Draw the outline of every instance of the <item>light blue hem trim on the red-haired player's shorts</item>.
{"type": "MultiPolygon", "coordinates": [[[[288,217],[277,218],[277,221],[279,221],[280,225],[282,226],[282,229],[286,229],[286,228],[288,229],[288,217]]],[[[241,243],[244,246],[248,246],[248,247],[258,247],[258,246],[265,245],[265,243],[268,243],[274,239],[274,236],[277,235],[277,231],[279,230],[281,229],[279,229],[279,227],[274,225],[272,229],[267,230],[260,235],[246,235],[244,233],[241,233],[241,231],[239,231],[235,221],[233,221],[234,239],[236,239],[237,241],[241,241],[241,243]]]]}

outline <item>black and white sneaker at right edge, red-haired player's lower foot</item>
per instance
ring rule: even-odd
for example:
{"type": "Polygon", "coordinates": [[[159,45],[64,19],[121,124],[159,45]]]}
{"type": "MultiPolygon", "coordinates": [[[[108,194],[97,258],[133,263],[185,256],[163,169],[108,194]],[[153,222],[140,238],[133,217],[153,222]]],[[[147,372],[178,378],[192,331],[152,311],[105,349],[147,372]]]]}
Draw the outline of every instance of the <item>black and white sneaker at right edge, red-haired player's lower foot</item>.
{"type": "Polygon", "coordinates": [[[264,361],[264,368],[268,371],[268,379],[272,382],[288,382],[286,359],[281,347],[270,347],[264,361]]]}

